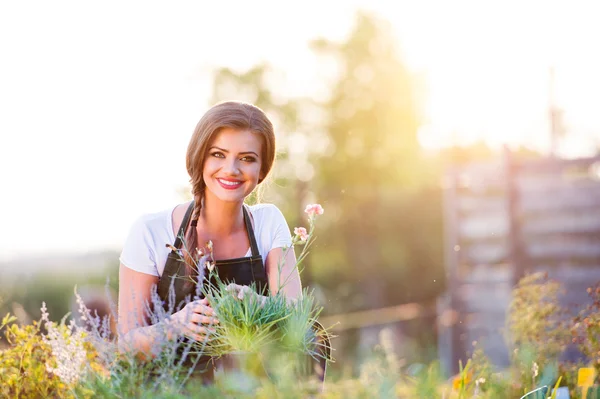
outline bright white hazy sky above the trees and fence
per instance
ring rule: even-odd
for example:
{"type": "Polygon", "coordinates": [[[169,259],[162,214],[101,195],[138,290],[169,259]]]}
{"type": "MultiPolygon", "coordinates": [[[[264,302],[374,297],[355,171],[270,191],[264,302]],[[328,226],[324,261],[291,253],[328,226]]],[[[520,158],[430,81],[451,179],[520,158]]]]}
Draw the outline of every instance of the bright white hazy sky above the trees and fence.
{"type": "Polygon", "coordinates": [[[593,1],[0,0],[0,261],[119,250],[137,217],[181,201],[211,71],[266,61],[277,95],[326,97],[309,41],[342,41],[359,8],[390,22],[422,84],[426,148],[547,149],[551,67],[564,154],[598,143],[593,1]]]}

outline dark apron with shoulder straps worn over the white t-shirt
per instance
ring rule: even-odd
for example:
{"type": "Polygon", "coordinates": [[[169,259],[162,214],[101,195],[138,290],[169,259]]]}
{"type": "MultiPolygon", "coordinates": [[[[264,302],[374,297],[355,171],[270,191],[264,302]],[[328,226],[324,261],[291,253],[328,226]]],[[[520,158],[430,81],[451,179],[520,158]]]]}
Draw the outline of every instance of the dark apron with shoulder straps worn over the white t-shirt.
{"type": "MultiPolygon", "coordinates": [[[[185,237],[188,225],[190,224],[190,217],[194,210],[194,201],[188,207],[185,216],[181,222],[179,233],[175,238],[173,246],[180,249],[182,241],[180,237],[185,237]]],[[[235,259],[225,259],[215,261],[215,270],[217,271],[221,281],[228,283],[236,283],[239,285],[251,285],[255,284],[256,290],[259,294],[268,296],[269,295],[269,284],[267,280],[267,273],[263,265],[262,256],[258,252],[258,245],[256,244],[256,238],[254,236],[254,228],[250,220],[250,214],[244,205],[242,207],[244,213],[244,224],[246,225],[246,233],[250,241],[251,256],[235,259]]],[[[216,283],[214,277],[210,281],[213,286],[216,283]]],[[[203,280],[203,285],[206,288],[208,283],[207,277],[203,280]]],[[[162,300],[163,307],[171,314],[180,310],[190,300],[200,299],[204,297],[204,294],[197,289],[196,284],[193,284],[189,280],[189,276],[186,276],[185,263],[179,253],[172,250],[165,263],[165,269],[158,282],[158,295],[162,300]],[[170,287],[173,286],[174,292],[171,293],[169,298],[170,287]],[[174,295],[173,295],[174,294],[174,295]],[[198,295],[197,295],[198,294],[198,295]]],[[[182,347],[186,344],[186,339],[182,339],[182,347]]],[[[183,349],[181,349],[183,353],[183,349]]],[[[212,380],[212,367],[209,365],[210,358],[203,356],[200,361],[196,362],[196,370],[202,373],[201,378],[205,382],[212,380]]],[[[192,359],[186,361],[186,365],[192,365],[192,359]]]]}

